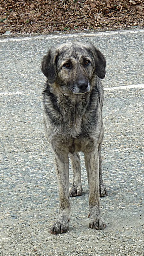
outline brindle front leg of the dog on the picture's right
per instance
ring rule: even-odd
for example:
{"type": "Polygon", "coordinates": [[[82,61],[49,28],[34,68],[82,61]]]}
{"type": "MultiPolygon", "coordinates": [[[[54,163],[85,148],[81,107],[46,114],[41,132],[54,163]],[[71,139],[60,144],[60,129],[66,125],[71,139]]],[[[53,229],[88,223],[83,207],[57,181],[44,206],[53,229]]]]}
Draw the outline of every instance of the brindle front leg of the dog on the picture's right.
{"type": "Polygon", "coordinates": [[[106,227],[100,213],[99,195],[99,154],[98,149],[84,153],[85,166],[89,184],[89,227],[103,229],[106,227]]]}

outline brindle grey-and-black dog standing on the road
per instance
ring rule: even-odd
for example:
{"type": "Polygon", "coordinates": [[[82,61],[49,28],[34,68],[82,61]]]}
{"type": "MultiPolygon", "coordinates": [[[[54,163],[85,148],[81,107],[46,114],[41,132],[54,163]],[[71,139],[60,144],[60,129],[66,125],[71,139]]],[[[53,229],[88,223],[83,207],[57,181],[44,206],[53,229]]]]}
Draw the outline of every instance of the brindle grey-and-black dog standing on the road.
{"type": "Polygon", "coordinates": [[[103,86],[106,60],[93,44],[69,42],[52,46],[44,56],[41,70],[47,78],[43,92],[44,127],[53,149],[57,173],[60,212],[51,234],[65,233],[70,221],[70,196],[82,194],[79,152],[89,185],[89,227],[106,227],[100,213],[100,196],[107,195],[101,173],[103,140],[103,86]],[[69,190],[69,160],[73,186],[69,190]]]}

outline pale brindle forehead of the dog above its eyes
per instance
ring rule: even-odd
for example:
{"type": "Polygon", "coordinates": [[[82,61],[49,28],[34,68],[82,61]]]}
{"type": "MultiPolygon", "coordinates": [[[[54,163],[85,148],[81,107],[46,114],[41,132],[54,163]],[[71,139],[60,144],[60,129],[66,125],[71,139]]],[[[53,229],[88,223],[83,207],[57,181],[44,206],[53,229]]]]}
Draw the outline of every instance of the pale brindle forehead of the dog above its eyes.
{"type": "Polygon", "coordinates": [[[59,47],[59,55],[62,58],[79,58],[81,56],[88,56],[88,45],[81,43],[66,43],[59,47]]]}

